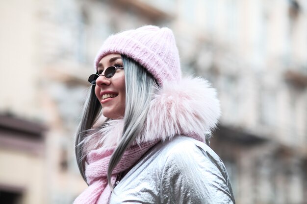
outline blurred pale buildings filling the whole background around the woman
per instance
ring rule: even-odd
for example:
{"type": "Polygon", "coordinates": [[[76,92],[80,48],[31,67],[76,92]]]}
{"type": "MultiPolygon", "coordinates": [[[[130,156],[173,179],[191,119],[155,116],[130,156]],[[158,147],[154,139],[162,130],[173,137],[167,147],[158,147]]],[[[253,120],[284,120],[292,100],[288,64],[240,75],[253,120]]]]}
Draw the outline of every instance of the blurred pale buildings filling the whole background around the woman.
{"type": "Polygon", "coordinates": [[[184,73],[217,89],[211,146],[237,204],[306,203],[307,0],[1,1],[0,203],[69,204],[86,187],[74,133],[93,59],[144,24],[172,28],[184,73]]]}

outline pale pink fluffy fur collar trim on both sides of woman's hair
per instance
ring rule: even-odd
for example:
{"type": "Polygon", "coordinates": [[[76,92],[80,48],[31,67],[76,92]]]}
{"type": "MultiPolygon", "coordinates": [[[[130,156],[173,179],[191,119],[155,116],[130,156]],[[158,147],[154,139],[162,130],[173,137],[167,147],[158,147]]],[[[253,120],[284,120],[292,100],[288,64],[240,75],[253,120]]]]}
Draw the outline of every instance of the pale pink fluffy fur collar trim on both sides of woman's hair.
{"type": "MultiPolygon", "coordinates": [[[[165,140],[176,135],[204,141],[211,136],[219,116],[216,91],[205,79],[188,77],[179,83],[164,83],[153,96],[146,123],[136,142],[165,140]]],[[[123,127],[123,119],[119,119],[108,120],[103,127],[90,130],[83,141],[85,152],[114,147],[121,139],[123,127]]]]}

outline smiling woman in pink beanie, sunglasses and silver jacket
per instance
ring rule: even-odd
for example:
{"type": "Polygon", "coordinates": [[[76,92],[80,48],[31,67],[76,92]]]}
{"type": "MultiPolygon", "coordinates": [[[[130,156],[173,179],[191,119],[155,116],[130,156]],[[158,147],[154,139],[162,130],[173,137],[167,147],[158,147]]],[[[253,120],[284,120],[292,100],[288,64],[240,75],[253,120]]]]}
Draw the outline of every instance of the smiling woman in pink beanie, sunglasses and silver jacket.
{"type": "Polygon", "coordinates": [[[89,187],[75,204],[234,203],[224,164],[204,143],[220,115],[216,92],[181,78],[170,29],[110,36],[95,68],[76,138],[89,187]]]}

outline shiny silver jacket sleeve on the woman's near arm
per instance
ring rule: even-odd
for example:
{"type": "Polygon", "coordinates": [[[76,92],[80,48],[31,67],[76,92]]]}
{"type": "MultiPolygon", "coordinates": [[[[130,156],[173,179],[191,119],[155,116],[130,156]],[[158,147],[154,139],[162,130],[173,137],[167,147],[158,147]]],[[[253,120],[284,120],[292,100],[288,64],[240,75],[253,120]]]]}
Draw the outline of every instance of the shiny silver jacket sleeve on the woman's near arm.
{"type": "Polygon", "coordinates": [[[163,204],[234,204],[222,160],[206,145],[186,142],[172,150],[161,176],[163,204]]]}

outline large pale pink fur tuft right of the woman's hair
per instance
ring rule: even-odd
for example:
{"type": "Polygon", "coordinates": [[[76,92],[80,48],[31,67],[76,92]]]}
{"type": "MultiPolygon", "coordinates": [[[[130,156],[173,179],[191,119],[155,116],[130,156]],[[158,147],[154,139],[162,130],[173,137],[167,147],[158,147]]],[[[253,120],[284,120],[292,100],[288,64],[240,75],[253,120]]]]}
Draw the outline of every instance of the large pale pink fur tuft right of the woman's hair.
{"type": "Polygon", "coordinates": [[[215,89],[201,78],[168,83],[154,96],[140,142],[176,135],[205,136],[216,127],[220,104],[215,89]]]}

